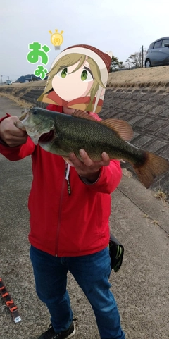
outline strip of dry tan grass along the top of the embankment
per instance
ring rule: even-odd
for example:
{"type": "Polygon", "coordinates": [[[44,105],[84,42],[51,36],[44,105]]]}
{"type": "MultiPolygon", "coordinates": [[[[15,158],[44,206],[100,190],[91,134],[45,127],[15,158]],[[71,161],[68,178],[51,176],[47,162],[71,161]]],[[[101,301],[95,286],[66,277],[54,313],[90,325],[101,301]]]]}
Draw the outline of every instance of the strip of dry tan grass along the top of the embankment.
{"type": "MultiPolygon", "coordinates": [[[[25,84],[13,83],[12,85],[0,86],[0,95],[15,101],[19,106],[31,107],[28,101],[22,99],[23,94],[30,90],[44,90],[46,80],[32,81],[25,84]]],[[[107,87],[113,90],[130,89],[148,92],[152,90],[163,94],[169,92],[169,66],[152,68],[137,68],[134,70],[120,70],[109,73],[107,87]]]]}

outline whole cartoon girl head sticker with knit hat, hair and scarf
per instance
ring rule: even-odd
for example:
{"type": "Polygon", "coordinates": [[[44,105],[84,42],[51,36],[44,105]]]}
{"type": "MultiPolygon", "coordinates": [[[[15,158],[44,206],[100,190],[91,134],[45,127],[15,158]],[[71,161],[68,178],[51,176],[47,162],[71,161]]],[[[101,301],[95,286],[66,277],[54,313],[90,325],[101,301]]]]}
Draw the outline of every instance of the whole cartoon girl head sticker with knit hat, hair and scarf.
{"type": "Polygon", "coordinates": [[[110,54],[95,47],[78,45],[65,49],[52,64],[38,101],[99,113],[110,63],[110,54]]]}

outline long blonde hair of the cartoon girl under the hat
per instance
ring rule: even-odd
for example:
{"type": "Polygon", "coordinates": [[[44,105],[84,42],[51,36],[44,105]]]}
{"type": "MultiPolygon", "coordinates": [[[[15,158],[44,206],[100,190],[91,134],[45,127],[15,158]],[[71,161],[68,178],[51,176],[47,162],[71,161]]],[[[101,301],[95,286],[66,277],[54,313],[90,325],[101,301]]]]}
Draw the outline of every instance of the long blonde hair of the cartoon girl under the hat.
{"type": "MultiPolygon", "coordinates": [[[[61,70],[61,68],[63,67],[73,66],[75,65],[75,63],[80,61],[80,63],[75,68],[75,70],[73,70],[72,73],[74,73],[76,72],[76,70],[82,67],[85,60],[86,60],[86,56],[84,54],[79,54],[79,53],[70,53],[70,54],[63,56],[61,59],[59,59],[56,62],[56,64],[53,66],[53,68],[51,68],[50,72],[48,73],[48,80],[46,82],[45,90],[42,93],[42,95],[39,97],[38,101],[43,101],[44,95],[51,92],[51,90],[53,89],[51,82],[54,76],[58,73],[58,70],[61,70]]],[[[106,88],[106,87],[101,81],[101,73],[100,73],[99,66],[97,65],[97,63],[92,58],[89,58],[89,57],[87,58],[87,62],[89,63],[90,69],[94,76],[94,83],[91,89],[89,90],[89,92],[87,93],[87,95],[90,94],[90,102],[89,102],[89,105],[87,106],[87,111],[92,111],[92,102],[96,95],[96,92],[99,89],[99,85],[103,88],[106,88]]]]}

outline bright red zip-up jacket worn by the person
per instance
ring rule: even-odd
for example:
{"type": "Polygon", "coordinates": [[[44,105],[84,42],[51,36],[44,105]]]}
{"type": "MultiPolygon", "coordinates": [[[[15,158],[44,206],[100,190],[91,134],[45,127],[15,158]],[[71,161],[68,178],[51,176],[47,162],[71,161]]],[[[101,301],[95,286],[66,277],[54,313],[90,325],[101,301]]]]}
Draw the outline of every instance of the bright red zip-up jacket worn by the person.
{"type": "MultiPolygon", "coordinates": [[[[62,112],[61,106],[49,105],[47,109],[62,112]]],[[[103,166],[99,179],[89,185],[70,166],[69,194],[64,159],[35,146],[30,137],[18,147],[0,144],[0,153],[11,161],[32,156],[28,208],[33,246],[58,257],[92,254],[108,246],[111,192],[122,176],[119,161],[103,166]]]]}

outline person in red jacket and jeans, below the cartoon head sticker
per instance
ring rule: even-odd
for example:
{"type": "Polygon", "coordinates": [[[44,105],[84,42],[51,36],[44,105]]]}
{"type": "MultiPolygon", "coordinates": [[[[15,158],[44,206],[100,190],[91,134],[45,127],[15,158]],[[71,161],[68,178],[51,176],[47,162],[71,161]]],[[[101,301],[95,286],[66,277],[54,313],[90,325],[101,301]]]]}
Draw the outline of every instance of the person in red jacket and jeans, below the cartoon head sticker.
{"type": "MultiPolygon", "coordinates": [[[[72,114],[74,109],[49,104],[47,109],[72,114]]],[[[89,113],[89,112],[88,112],[89,113]]],[[[99,119],[96,113],[89,113],[99,119]]],[[[120,162],[101,154],[92,161],[84,149],[82,161],[35,146],[15,127],[16,116],[0,121],[0,153],[11,161],[32,156],[30,259],[37,295],[46,304],[51,325],[39,339],[65,339],[75,334],[73,311],[66,288],[68,271],[89,300],[101,339],[125,339],[118,307],[110,290],[111,258],[108,243],[111,193],[120,183],[120,162]]]]}

